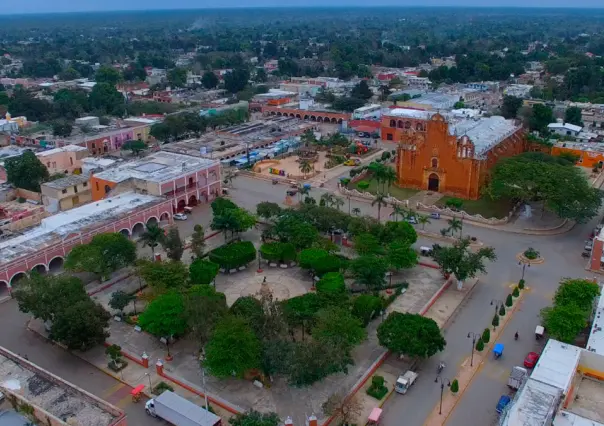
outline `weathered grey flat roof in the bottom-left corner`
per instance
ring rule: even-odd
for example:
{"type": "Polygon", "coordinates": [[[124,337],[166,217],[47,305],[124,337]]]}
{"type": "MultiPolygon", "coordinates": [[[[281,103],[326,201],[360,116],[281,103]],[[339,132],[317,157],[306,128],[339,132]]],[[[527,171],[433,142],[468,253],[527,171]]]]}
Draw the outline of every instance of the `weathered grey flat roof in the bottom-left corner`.
{"type": "Polygon", "coordinates": [[[46,370],[0,348],[0,386],[29,404],[78,426],[110,426],[123,412],[46,370]]]}

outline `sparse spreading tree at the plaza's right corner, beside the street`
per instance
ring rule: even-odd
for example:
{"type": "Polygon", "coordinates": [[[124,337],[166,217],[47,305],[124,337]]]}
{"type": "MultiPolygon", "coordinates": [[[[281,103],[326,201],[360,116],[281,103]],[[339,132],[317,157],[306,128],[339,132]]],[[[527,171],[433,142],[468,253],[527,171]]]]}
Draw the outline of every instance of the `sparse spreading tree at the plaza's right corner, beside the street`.
{"type": "Polygon", "coordinates": [[[481,247],[475,252],[469,250],[469,247],[469,238],[455,241],[450,247],[434,245],[432,257],[443,274],[455,275],[458,288],[461,288],[463,281],[468,278],[474,278],[478,273],[486,273],[485,260],[497,259],[492,247],[481,247]]]}

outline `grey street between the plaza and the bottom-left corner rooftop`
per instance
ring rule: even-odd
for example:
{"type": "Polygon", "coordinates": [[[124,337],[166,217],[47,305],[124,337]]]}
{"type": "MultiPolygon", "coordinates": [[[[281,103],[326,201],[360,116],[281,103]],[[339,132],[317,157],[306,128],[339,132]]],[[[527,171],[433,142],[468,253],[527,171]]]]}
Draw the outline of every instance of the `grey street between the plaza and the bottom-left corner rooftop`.
{"type": "Polygon", "coordinates": [[[129,425],[164,424],[145,414],[146,401],[141,399],[137,404],[132,403],[129,386],[27,331],[25,324],[28,316],[19,312],[15,301],[0,304],[0,319],[2,320],[1,346],[15,353],[27,355],[30,361],[40,367],[125,410],[129,425]]]}

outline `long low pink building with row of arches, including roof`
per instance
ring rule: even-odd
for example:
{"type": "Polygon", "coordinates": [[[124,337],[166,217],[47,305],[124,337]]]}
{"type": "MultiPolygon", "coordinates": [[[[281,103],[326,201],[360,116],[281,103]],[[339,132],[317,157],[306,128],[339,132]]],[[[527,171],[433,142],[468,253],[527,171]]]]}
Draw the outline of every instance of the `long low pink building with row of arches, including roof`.
{"type": "Polygon", "coordinates": [[[172,222],[172,201],[127,192],[45,219],[23,234],[0,241],[0,291],[8,291],[35,269],[57,272],[78,244],[105,232],[142,234],[146,224],[172,222]]]}

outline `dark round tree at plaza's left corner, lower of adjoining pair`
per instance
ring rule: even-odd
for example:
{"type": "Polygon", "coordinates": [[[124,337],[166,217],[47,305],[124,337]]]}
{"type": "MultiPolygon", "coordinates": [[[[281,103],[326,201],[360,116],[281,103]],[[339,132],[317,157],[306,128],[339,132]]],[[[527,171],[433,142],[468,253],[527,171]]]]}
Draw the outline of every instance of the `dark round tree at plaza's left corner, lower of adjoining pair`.
{"type": "Polygon", "coordinates": [[[105,330],[109,327],[110,318],[109,312],[101,305],[83,299],[57,313],[49,337],[68,349],[86,351],[109,337],[105,330]]]}

